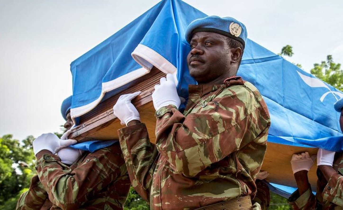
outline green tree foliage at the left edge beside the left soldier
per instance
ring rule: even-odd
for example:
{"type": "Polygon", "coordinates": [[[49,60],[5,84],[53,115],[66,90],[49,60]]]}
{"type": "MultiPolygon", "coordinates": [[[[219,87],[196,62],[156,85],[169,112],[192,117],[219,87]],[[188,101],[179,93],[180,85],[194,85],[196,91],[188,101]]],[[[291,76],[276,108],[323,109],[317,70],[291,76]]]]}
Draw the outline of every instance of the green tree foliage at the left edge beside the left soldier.
{"type": "Polygon", "coordinates": [[[33,140],[32,136],[22,143],[12,139],[12,135],[0,138],[0,206],[13,199],[16,202],[21,190],[29,186],[35,173],[33,140]]]}

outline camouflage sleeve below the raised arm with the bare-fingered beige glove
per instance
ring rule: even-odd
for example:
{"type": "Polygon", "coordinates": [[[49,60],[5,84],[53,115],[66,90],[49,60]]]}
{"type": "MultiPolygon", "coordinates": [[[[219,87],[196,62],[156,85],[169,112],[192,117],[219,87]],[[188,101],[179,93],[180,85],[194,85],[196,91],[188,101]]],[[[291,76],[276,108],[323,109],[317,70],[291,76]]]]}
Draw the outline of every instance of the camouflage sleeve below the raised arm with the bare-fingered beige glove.
{"type": "Polygon", "coordinates": [[[311,189],[308,189],[302,195],[299,195],[299,190],[297,189],[292,195],[288,198],[289,204],[294,210],[314,210],[316,209],[316,197],[311,192],[311,189]]]}

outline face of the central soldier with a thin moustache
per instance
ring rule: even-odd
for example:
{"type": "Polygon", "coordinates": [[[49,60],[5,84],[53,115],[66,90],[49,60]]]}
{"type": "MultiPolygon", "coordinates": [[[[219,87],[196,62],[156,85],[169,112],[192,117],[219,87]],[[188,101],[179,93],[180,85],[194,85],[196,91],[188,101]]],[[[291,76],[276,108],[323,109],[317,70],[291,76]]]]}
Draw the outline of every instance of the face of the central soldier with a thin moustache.
{"type": "Polygon", "coordinates": [[[187,56],[190,75],[199,83],[210,83],[231,68],[231,51],[227,37],[213,32],[197,32],[190,41],[187,56]]]}

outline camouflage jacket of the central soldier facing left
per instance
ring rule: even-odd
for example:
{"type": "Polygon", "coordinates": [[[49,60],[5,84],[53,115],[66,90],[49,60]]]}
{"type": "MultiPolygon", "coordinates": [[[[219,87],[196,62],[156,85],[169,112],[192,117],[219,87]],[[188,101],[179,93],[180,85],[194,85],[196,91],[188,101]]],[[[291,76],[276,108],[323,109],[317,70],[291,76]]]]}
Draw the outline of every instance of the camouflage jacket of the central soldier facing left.
{"type": "Polygon", "coordinates": [[[190,85],[184,114],[157,110],[156,142],[143,123],[118,130],[132,186],[151,209],[195,209],[256,194],[270,117],[252,84],[190,85]]]}

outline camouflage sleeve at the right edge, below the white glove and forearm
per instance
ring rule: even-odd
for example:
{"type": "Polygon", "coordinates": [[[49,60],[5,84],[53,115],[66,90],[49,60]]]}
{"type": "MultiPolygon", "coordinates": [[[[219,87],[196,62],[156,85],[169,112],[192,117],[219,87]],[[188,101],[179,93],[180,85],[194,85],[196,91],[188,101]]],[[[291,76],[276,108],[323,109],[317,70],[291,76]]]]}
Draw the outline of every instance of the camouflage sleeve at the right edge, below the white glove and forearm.
{"type": "Polygon", "coordinates": [[[327,200],[335,205],[343,207],[343,176],[333,174],[322,193],[323,200],[327,200]]]}

